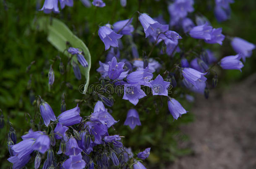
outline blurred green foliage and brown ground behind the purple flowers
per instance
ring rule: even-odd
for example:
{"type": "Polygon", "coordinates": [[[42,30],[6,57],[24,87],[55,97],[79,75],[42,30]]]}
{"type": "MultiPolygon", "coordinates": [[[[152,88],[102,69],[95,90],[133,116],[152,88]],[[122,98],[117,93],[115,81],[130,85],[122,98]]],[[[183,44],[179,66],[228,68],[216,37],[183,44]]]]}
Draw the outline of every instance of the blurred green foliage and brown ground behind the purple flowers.
{"type": "MultiPolygon", "coordinates": [[[[104,61],[106,57],[105,54],[101,55],[102,50],[98,50],[104,49],[104,44],[97,36],[99,25],[128,19],[137,10],[149,13],[152,18],[162,15],[167,22],[170,19],[165,0],[128,0],[125,8],[120,6],[119,0],[104,2],[106,7],[96,9],[93,6],[86,8],[80,0],[74,0],[73,8],[65,8],[59,15],[52,14],[53,17],[63,20],[87,46],[90,43],[90,83],[99,78],[96,72],[98,61],[104,61]]],[[[6,149],[10,128],[8,121],[16,129],[18,141],[31,125],[42,122],[33,121],[33,117],[39,112],[37,104],[34,103],[38,95],[52,106],[56,116],[60,114],[62,93],[66,95],[67,109],[76,105],[76,99],[86,97],[78,92],[78,86],[84,80],[77,81],[73,72],[69,72],[63,84],[59,63],[55,63],[53,67],[56,80],[54,88],[48,90],[47,74],[50,64],[56,55],[61,56],[62,53],[47,41],[45,33],[32,29],[37,18],[45,15],[38,11],[42,4],[43,0],[0,0],[0,109],[5,121],[4,128],[0,129],[0,168],[10,166],[6,160],[9,156],[6,149]],[[65,86],[64,91],[60,90],[62,85],[65,86]]],[[[214,28],[222,27],[225,35],[237,36],[255,44],[255,7],[255,0],[235,0],[231,4],[231,19],[218,23],[213,13],[214,0],[195,0],[194,13],[204,15],[214,28]]],[[[136,17],[133,25],[138,26],[136,17]]],[[[149,50],[149,46],[139,38],[135,37],[134,42],[140,55],[142,50],[149,50]]],[[[225,41],[222,46],[205,44],[205,47],[211,48],[217,58],[235,55],[229,41],[225,41]]],[[[121,124],[116,129],[120,135],[125,136],[124,145],[132,147],[135,152],[151,147],[148,168],[256,168],[255,56],[254,51],[251,58],[246,59],[242,73],[217,70],[219,85],[210,91],[209,99],[196,95],[194,103],[181,101],[189,113],[177,121],[167,115],[166,105],[159,106],[157,101],[147,99],[138,107],[143,125],[131,131],[122,125],[122,119],[126,116],[126,111],[123,110],[128,110],[130,105],[121,99],[116,100],[111,109],[113,117],[120,118],[121,124]],[[154,121],[162,123],[157,125],[154,121]]],[[[67,63],[67,58],[63,58],[63,63],[67,63]]],[[[93,105],[92,102],[89,100],[81,105],[82,115],[91,113],[92,109],[88,105],[93,105]]]]}

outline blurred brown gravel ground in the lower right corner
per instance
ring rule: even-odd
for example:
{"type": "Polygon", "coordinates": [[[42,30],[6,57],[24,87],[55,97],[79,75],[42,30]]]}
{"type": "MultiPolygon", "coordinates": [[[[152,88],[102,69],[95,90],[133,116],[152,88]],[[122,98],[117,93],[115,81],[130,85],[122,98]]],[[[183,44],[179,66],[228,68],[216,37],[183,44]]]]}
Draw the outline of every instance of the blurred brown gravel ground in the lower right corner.
{"type": "Polygon", "coordinates": [[[196,97],[195,121],[181,127],[193,155],[168,169],[256,169],[256,74],[210,94],[196,97]]]}

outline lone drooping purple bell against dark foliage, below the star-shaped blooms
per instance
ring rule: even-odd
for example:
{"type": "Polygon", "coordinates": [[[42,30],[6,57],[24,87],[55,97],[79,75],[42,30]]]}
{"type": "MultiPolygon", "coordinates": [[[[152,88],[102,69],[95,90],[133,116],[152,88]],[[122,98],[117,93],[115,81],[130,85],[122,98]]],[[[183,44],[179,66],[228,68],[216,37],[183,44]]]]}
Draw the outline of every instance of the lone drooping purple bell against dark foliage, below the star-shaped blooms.
{"type": "Polygon", "coordinates": [[[138,116],[138,111],[136,111],[134,108],[130,109],[127,113],[124,125],[129,126],[132,130],[136,126],[141,126],[141,121],[138,116]]]}

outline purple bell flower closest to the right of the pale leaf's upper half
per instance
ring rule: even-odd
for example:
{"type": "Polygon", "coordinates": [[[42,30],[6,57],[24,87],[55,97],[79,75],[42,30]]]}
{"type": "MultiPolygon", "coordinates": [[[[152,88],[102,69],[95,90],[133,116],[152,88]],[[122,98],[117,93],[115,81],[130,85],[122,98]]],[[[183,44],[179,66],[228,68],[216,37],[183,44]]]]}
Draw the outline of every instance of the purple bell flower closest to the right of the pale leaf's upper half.
{"type": "Polygon", "coordinates": [[[105,50],[108,50],[110,46],[118,47],[118,39],[122,38],[123,36],[115,33],[114,30],[108,27],[108,25],[109,24],[100,27],[98,31],[99,38],[105,45],[105,50]]]}

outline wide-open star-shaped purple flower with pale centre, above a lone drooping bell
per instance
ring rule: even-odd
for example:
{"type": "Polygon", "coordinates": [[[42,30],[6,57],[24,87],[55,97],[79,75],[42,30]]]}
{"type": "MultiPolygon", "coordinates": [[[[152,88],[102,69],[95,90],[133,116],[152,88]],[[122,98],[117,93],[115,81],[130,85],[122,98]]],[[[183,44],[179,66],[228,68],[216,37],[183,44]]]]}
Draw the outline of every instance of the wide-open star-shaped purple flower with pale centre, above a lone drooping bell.
{"type": "Polygon", "coordinates": [[[144,98],[146,94],[141,90],[141,85],[137,84],[124,84],[123,99],[128,100],[136,106],[138,99],[144,98]]]}

